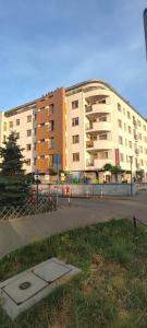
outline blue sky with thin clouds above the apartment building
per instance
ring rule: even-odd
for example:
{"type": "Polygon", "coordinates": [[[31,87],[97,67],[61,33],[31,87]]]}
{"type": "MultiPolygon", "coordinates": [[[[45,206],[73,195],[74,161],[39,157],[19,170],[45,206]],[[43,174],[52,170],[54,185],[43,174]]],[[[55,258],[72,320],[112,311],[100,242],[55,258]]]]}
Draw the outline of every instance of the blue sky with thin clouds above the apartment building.
{"type": "Polygon", "coordinates": [[[0,110],[103,80],[147,117],[147,0],[0,0],[0,110]]]}

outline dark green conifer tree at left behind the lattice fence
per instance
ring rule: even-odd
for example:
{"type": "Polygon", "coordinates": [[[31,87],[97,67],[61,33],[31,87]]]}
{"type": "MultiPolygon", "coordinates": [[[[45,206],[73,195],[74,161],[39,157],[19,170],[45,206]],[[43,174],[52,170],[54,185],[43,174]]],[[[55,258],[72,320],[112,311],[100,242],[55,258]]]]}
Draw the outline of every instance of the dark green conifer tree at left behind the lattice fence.
{"type": "Polygon", "coordinates": [[[23,149],[16,142],[16,134],[11,132],[4,147],[0,148],[0,204],[7,207],[25,203],[29,195],[28,177],[23,171],[23,149]]]}

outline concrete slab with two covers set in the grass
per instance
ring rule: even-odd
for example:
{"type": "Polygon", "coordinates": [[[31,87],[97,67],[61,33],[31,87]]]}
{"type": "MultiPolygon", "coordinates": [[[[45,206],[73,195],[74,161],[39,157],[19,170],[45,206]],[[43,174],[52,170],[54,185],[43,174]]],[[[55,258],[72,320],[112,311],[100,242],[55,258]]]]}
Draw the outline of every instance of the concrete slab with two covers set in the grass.
{"type": "Polygon", "coordinates": [[[0,305],[11,319],[15,319],[79,272],[78,268],[57,258],[49,259],[0,283],[0,305]]]}

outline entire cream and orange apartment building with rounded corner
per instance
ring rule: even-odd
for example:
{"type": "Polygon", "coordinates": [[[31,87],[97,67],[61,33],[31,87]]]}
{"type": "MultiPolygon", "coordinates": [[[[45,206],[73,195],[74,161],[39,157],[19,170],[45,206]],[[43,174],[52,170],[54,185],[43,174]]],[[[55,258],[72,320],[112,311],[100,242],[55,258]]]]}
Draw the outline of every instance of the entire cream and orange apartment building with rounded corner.
{"type": "Polygon", "coordinates": [[[0,142],[10,131],[24,148],[26,173],[57,169],[103,179],[105,164],[147,178],[147,121],[114,89],[89,80],[57,89],[0,113],[0,142]]]}

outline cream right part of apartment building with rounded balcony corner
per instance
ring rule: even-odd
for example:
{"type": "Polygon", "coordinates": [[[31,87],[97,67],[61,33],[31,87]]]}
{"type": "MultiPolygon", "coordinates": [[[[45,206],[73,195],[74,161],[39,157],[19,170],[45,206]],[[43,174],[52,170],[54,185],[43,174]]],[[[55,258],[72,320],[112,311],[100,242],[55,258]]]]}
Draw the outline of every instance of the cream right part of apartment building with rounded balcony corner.
{"type": "MultiPolygon", "coordinates": [[[[100,172],[105,164],[147,174],[147,121],[109,84],[91,80],[66,89],[66,165],[100,172]]],[[[102,173],[102,176],[105,173],[102,173]]]]}

